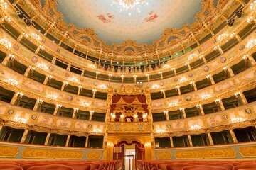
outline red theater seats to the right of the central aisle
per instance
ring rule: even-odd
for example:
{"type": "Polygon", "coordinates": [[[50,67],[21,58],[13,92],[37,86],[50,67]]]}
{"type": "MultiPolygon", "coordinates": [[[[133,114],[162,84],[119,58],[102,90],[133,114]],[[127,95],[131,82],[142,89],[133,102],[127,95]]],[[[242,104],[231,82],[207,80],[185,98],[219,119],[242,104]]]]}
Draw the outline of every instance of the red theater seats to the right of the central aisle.
{"type": "Polygon", "coordinates": [[[256,170],[256,161],[137,161],[139,170],[256,170]]]}

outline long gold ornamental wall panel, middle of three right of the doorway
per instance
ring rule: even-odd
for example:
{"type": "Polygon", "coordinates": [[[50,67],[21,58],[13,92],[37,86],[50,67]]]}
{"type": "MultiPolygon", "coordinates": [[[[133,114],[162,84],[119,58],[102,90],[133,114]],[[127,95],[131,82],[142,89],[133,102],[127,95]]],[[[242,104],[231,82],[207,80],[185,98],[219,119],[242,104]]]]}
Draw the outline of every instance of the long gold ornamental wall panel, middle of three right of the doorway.
{"type": "Polygon", "coordinates": [[[235,158],[235,149],[232,147],[218,149],[193,149],[176,151],[176,159],[220,159],[220,158],[235,158]]]}

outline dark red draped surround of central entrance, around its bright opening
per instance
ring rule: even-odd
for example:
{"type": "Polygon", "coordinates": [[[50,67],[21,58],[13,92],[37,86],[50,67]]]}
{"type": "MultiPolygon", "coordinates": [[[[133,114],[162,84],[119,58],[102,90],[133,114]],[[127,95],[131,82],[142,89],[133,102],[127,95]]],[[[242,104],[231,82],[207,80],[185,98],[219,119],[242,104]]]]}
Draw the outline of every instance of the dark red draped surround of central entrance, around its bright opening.
{"type": "MultiPolygon", "coordinates": [[[[144,145],[140,142],[133,140],[132,142],[128,143],[125,140],[122,140],[114,145],[114,147],[119,147],[120,152],[119,153],[113,153],[113,160],[121,160],[122,161],[122,167],[124,167],[124,155],[126,154],[126,147],[134,145],[134,151],[135,151],[135,162],[137,160],[144,160],[145,159],[145,148],[144,145]]],[[[135,166],[136,167],[136,166],[135,166]]]]}

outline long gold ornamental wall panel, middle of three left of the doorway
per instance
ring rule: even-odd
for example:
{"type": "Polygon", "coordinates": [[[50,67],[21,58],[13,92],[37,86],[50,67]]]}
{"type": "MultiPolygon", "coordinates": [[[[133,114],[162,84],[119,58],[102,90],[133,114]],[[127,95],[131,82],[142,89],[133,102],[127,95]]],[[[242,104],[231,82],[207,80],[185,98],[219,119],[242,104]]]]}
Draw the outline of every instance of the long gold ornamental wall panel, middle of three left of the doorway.
{"type": "Polygon", "coordinates": [[[82,151],[71,151],[62,149],[38,149],[26,147],[22,151],[23,158],[33,159],[82,159],[82,151]]]}

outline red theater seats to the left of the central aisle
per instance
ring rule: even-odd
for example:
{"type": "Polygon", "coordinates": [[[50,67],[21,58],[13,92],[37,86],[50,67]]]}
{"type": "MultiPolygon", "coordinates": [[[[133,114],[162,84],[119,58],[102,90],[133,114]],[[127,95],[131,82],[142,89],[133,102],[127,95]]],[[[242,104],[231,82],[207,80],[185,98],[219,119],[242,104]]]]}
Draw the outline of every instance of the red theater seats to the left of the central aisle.
{"type": "Polygon", "coordinates": [[[1,170],[114,170],[119,161],[0,161],[1,170]]]}

